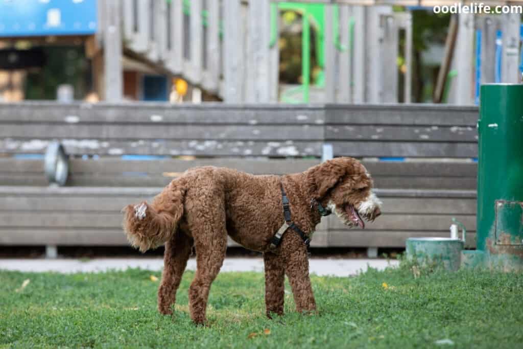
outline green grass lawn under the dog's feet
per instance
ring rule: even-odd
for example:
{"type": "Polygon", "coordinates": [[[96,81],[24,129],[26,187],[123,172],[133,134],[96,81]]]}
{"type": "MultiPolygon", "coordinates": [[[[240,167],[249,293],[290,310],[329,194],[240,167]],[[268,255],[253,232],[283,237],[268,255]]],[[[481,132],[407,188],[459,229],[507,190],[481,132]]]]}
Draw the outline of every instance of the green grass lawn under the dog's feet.
{"type": "Polygon", "coordinates": [[[485,347],[523,345],[523,274],[422,273],[408,267],[351,278],[312,277],[319,313],[264,316],[264,278],[222,273],[208,327],[187,307],[185,273],[175,315],[156,311],[158,281],[143,270],[61,275],[0,272],[0,348],[10,347],[485,347]],[[24,280],[30,283],[18,292],[24,280]],[[388,287],[384,287],[386,283],[388,287]],[[270,331],[266,334],[265,332],[270,331]],[[449,339],[454,345],[436,345],[449,339]]]}

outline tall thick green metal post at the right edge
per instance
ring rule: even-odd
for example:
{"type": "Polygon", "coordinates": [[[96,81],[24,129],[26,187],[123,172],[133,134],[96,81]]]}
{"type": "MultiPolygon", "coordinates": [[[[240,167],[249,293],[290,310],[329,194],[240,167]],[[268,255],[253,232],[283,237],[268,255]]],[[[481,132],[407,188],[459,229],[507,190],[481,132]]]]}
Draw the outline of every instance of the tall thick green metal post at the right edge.
{"type": "Polygon", "coordinates": [[[477,253],[491,268],[523,269],[523,85],[481,86],[477,253]]]}

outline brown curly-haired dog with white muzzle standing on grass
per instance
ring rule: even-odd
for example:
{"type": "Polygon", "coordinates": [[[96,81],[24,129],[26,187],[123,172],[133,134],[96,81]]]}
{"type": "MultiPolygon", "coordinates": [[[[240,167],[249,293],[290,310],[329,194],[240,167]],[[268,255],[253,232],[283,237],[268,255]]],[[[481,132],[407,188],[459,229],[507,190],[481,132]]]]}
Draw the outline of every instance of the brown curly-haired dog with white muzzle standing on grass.
{"type": "Polygon", "coordinates": [[[227,235],[247,249],[263,252],[268,317],[283,313],[285,274],[296,309],[313,311],[316,303],[305,240],[329,211],[349,227],[364,228],[363,219],[380,215],[381,202],[371,189],[369,173],[351,157],[338,157],[285,176],[195,167],[174,179],[151,204],[124,208],[123,228],[129,242],[142,252],[165,243],[158,289],[162,314],[173,312],[176,290],[194,245],[197,271],[189,288],[189,309],[194,322],[206,321],[209,289],[222,266],[227,235]],[[298,229],[283,226],[283,190],[290,220],[298,229]],[[281,243],[271,245],[278,231],[285,232],[281,243]]]}

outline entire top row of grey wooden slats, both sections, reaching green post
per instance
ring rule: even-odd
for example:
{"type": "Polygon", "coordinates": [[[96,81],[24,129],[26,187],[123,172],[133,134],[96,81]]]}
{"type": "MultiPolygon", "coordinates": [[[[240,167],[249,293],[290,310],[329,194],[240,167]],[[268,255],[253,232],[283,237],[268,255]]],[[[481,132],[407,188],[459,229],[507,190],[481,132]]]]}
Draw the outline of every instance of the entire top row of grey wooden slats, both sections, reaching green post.
{"type": "Polygon", "coordinates": [[[212,120],[213,123],[242,123],[244,125],[257,122],[259,125],[261,123],[325,123],[474,127],[478,116],[479,109],[476,106],[419,104],[410,107],[397,104],[286,106],[203,103],[180,106],[167,103],[73,103],[58,105],[54,102],[3,103],[0,105],[0,122],[208,123],[212,120]],[[13,113],[13,110],[17,110],[17,112],[13,113]]]}

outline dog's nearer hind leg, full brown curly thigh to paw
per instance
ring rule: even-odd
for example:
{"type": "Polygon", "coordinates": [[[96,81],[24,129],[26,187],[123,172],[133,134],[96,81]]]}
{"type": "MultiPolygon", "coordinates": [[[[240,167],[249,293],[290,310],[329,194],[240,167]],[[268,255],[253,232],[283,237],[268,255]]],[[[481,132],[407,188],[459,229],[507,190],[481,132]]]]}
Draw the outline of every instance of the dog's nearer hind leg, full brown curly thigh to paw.
{"type": "MultiPolygon", "coordinates": [[[[202,324],[206,321],[207,299],[212,282],[220,272],[227,250],[225,228],[225,205],[223,197],[206,199],[202,194],[195,200],[198,211],[188,215],[187,221],[196,248],[196,275],[189,288],[189,310],[192,321],[202,324]],[[204,202],[204,204],[202,204],[204,202]]],[[[188,206],[193,202],[188,200],[188,206]]]]}

